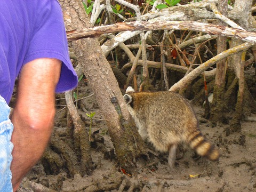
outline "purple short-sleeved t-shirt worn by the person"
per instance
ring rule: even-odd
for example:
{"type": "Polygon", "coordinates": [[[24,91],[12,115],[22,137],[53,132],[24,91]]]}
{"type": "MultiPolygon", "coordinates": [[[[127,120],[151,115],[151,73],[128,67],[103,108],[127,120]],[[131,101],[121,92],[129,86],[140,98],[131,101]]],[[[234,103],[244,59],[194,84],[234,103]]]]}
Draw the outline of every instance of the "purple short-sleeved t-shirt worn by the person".
{"type": "Polygon", "coordinates": [[[0,0],[0,95],[7,103],[22,66],[38,58],[62,61],[56,92],[77,86],[59,2],[0,0]]]}

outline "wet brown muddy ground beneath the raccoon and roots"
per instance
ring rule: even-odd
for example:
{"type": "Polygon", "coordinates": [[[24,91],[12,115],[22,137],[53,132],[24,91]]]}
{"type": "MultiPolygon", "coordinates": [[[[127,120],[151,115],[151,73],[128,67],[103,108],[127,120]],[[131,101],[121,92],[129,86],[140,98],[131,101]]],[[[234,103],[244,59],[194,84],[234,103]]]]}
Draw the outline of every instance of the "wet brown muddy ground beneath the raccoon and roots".
{"type": "MultiPolygon", "coordinates": [[[[87,94],[92,93],[87,86],[84,91],[87,94]]],[[[87,112],[96,113],[94,119],[97,119],[94,120],[92,127],[92,132],[95,133],[95,142],[91,148],[95,166],[92,175],[75,175],[74,178],[68,178],[65,170],[58,175],[46,175],[44,167],[38,163],[30,171],[27,179],[55,191],[256,191],[255,122],[243,122],[242,133],[226,137],[225,130],[228,125],[212,127],[209,121],[202,119],[204,109],[194,106],[201,120],[202,132],[221,153],[219,161],[210,162],[205,158],[198,158],[191,149],[185,147],[183,156],[180,153],[179,156],[182,157],[177,159],[173,170],[170,170],[167,163],[167,154],[156,152],[158,158],[153,157],[147,164],[138,162],[142,166],[141,170],[134,175],[128,175],[116,166],[114,156],[106,155],[106,151],[111,153],[114,148],[107,126],[101,121],[103,116],[95,98],[90,97],[82,102],[87,112]]],[[[86,120],[85,112],[81,112],[81,116],[89,127],[89,119],[86,120]]],[[[58,129],[65,130],[61,124],[58,126],[58,129]]],[[[149,143],[148,146],[154,150],[149,143]]]]}

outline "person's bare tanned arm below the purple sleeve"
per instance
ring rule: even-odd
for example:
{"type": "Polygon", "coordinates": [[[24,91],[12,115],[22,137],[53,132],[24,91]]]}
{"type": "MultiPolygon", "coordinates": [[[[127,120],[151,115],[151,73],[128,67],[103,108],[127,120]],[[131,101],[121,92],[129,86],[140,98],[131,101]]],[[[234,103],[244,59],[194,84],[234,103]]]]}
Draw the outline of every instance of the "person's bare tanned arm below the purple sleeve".
{"type": "Polygon", "coordinates": [[[17,104],[11,117],[14,125],[11,140],[14,144],[11,164],[14,191],[41,158],[49,142],[60,69],[59,60],[42,58],[30,61],[21,70],[17,104]]]}

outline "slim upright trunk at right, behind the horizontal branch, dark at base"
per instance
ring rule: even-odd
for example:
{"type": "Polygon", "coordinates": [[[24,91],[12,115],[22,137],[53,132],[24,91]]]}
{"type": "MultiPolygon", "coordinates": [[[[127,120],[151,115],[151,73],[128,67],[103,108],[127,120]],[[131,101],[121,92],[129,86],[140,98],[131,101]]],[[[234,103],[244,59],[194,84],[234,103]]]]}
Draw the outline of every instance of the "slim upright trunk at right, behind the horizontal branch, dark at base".
{"type": "MultiPolygon", "coordinates": [[[[219,0],[218,9],[222,15],[228,14],[228,1],[219,0]]],[[[225,22],[219,21],[218,25],[225,26],[225,22]]],[[[227,49],[227,37],[217,37],[217,54],[227,49]]],[[[226,76],[226,59],[217,62],[217,70],[215,75],[215,84],[213,90],[213,102],[211,106],[210,121],[215,123],[223,123],[224,120],[224,103],[223,98],[225,94],[225,76],[226,76]]]]}

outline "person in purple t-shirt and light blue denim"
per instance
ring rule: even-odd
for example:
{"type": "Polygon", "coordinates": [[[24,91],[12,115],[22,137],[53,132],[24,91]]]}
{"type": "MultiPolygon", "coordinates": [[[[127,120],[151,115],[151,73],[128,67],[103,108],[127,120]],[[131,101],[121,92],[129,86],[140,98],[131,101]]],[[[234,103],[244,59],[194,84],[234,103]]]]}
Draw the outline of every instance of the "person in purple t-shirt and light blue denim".
{"type": "Polygon", "coordinates": [[[77,86],[57,0],[0,1],[0,191],[16,191],[50,140],[54,93],[77,86]],[[15,79],[17,102],[9,118],[15,79]]]}

